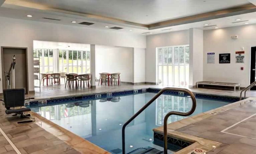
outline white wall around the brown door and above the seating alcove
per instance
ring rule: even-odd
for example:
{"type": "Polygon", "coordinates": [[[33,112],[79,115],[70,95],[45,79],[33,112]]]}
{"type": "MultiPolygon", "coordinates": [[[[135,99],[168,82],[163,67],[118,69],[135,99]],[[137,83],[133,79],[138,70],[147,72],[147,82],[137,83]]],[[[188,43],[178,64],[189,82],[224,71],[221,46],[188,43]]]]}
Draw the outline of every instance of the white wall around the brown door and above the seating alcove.
{"type": "MultiPolygon", "coordinates": [[[[146,36],[129,32],[4,17],[0,17],[0,23],[0,46],[28,48],[29,91],[34,90],[33,40],[146,48],[146,36]]],[[[0,76],[2,77],[2,70],[0,76]]],[[[2,93],[2,82],[0,82],[0,93],[2,93]]]]}

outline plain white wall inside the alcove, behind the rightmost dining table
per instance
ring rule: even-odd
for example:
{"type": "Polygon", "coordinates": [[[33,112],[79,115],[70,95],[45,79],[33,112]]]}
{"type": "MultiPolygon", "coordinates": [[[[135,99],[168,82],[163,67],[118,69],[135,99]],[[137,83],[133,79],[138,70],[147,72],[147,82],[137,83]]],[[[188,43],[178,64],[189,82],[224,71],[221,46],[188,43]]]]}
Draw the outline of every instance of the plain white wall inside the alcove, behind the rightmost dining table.
{"type": "Polygon", "coordinates": [[[99,73],[121,73],[123,82],[133,82],[133,48],[113,47],[97,48],[96,46],[96,78],[99,73]]]}

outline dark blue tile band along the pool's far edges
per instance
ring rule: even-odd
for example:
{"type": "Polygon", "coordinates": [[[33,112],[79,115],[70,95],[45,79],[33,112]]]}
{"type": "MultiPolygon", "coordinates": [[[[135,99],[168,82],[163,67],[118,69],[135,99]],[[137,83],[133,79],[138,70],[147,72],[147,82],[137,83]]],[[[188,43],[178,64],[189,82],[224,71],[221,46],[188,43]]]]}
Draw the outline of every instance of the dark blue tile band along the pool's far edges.
{"type": "MultiPolygon", "coordinates": [[[[90,95],[84,95],[84,96],[72,96],[72,97],[56,98],[56,99],[43,99],[43,100],[36,100],[36,101],[26,101],[24,106],[37,107],[37,106],[55,105],[59,103],[73,102],[73,101],[96,100],[101,98],[112,98],[117,96],[134,95],[134,94],[141,94],[146,92],[158,93],[160,90],[161,89],[147,88],[147,89],[126,90],[126,91],[120,91],[120,92],[97,93],[97,94],[90,94],[90,95]]],[[[172,91],[172,90],[165,91],[163,94],[185,96],[185,97],[189,96],[187,93],[172,91]]],[[[194,93],[194,95],[196,96],[196,98],[203,98],[203,99],[213,99],[213,100],[220,100],[220,101],[227,101],[227,102],[239,101],[238,97],[218,96],[218,95],[200,94],[200,93],[194,93]]]]}

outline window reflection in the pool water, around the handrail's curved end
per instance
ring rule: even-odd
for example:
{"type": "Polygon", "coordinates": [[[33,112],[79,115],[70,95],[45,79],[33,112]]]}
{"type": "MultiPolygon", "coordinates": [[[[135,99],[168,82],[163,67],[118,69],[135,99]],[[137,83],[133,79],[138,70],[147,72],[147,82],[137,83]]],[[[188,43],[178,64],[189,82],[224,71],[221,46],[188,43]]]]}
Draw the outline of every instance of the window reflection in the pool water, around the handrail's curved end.
{"type": "MultiPolygon", "coordinates": [[[[188,112],[191,108],[191,106],[189,105],[189,97],[161,95],[157,98],[156,102],[156,125],[158,126],[164,125],[164,118],[168,112],[188,112]]],[[[168,118],[168,123],[172,123],[184,118],[185,117],[183,116],[171,115],[168,118]]]]}

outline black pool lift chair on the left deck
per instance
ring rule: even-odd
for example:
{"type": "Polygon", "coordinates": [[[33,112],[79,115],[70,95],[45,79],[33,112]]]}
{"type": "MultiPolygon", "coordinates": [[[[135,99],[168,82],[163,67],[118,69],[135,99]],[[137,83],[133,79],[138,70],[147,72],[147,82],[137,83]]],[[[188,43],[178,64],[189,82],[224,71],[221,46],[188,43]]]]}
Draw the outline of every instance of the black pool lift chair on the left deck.
{"type": "Polygon", "coordinates": [[[35,118],[31,117],[29,113],[25,114],[23,112],[31,111],[30,108],[22,108],[24,106],[25,100],[34,99],[34,98],[26,98],[25,99],[25,90],[24,89],[4,89],[3,90],[4,106],[6,108],[6,114],[12,114],[12,116],[20,115],[21,118],[30,118],[31,120],[19,121],[18,124],[33,122],[35,118]],[[19,107],[19,108],[17,108],[19,107]],[[12,109],[11,109],[12,108],[12,109]]]}

